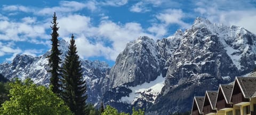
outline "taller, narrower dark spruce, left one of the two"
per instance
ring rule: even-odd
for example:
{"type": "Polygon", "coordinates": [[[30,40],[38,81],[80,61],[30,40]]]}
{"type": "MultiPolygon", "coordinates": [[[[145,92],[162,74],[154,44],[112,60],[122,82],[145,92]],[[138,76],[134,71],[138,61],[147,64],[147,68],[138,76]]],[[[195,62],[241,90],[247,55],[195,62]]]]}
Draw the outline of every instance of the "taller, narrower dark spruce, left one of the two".
{"type": "Polygon", "coordinates": [[[53,22],[52,23],[52,33],[51,33],[51,42],[52,42],[52,48],[51,48],[51,54],[48,55],[47,57],[49,58],[49,65],[50,65],[50,72],[51,72],[51,78],[50,78],[50,85],[52,85],[51,90],[53,93],[59,95],[60,93],[60,83],[59,83],[59,77],[61,76],[61,68],[59,66],[59,64],[61,63],[61,59],[60,59],[60,50],[58,49],[59,46],[59,34],[58,34],[58,30],[59,27],[57,27],[57,17],[56,14],[54,12],[53,15],[53,22]]]}

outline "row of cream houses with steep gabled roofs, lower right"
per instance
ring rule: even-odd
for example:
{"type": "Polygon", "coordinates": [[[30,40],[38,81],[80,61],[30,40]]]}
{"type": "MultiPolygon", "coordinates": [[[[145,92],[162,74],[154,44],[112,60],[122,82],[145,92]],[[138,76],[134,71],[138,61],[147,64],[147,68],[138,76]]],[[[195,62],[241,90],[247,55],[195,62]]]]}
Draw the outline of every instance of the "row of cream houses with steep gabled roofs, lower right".
{"type": "Polygon", "coordinates": [[[256,115],[256,77],[236,77],[233,84],[221,84],[218,91],[206,91],[202,112],[198,102],[194,97],[193,115],[256,115]]]}

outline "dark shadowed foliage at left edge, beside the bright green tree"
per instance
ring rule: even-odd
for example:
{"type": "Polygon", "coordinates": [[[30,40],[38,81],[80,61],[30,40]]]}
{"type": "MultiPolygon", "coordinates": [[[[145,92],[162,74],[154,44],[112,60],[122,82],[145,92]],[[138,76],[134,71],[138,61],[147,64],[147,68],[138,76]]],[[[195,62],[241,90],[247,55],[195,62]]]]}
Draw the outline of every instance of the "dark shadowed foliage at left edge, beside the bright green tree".
{"type": "Polygon", "coordinates": [[[0,82],[0,107],[2,106],[2,103],[9,100],[9,91],[9,83],[0,82]]]}

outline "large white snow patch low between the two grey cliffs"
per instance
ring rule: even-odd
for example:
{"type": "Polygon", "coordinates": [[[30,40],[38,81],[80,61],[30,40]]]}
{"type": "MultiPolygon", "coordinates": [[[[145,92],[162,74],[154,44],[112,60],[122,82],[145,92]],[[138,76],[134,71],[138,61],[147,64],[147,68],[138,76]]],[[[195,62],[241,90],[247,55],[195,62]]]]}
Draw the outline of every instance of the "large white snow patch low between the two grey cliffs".
{"type": "Polygon", "coordinates": [[[141,85],[137,85],[135,87],[128,87],[132,90],[132,93],[129,96],[122,97],[119,101],[133,104],[138,100],[138,98],[143,98],[141,94],[153,95],[154,101],[149,101],[154,103],[157,95],[161,92],[164,87],[165,78],[160,75],[154,81],[150,81],[150,83],[143,83],[141,85]]]}

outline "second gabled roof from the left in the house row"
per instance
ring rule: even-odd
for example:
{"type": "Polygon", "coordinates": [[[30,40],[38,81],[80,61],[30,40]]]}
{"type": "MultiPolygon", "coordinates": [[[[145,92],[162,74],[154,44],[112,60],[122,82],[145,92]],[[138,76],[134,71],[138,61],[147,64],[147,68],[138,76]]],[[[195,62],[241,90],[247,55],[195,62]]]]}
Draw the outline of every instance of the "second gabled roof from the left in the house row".
{"type": "Polygon", "coordinates": [[[218,91],[206,91],[204,101],[205,101],[205,100],[209,100],[212,109],[215,109],[215,104],[216,104],[217,96],[218,96],[218,91]],[[206,96],[207,96],[208,98],[206,98],[206,96]]]}

